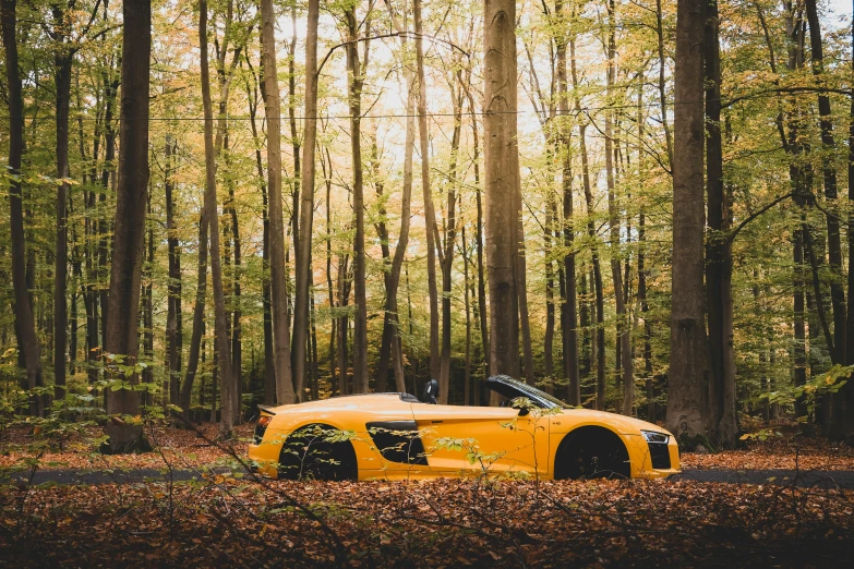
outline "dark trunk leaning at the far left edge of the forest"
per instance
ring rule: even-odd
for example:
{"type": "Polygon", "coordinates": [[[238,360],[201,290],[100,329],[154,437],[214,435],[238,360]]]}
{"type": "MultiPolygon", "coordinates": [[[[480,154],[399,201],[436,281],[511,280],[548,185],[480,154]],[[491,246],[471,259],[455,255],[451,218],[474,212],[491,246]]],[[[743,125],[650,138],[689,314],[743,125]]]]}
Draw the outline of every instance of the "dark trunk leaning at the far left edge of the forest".
{"type": "MultiPolygon", "coordinates": [[[[17,347],[26,367],[26,387],[44,385],[41,376],[41,347],[36,336],[33,306],[27,292],[24,211],[21,194],[21,158],[24,154],[24,101],[21,95],[21,76],[17,71],[16,14],[13,0],[0,3],[3,48],[5,49],[7,90],[9,97],[9,217],[12,238],[12,288],[14,289],[15,332],[17,347]]],[[[29,412],[41,415],[44,399],[31,397],[29,412]]]]}

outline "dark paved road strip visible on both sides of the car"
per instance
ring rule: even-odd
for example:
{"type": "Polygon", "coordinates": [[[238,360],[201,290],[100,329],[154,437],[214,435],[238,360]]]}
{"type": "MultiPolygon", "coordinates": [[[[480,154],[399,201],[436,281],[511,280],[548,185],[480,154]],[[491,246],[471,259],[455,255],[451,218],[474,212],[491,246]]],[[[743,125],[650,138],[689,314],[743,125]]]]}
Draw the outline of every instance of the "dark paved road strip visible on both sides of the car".
{"type": "MultiPolygon", "coordinates": [[[[218,472],[228,471],[219,469],[218,472]]],[[[171,474],[176,482],[201,480],[201,473],[191,470],[176,470],[171,474]]],[[[134,484],[144,482],[166,482],[170,475],[157,469],[140,469],[113,473],[77,470],[41,470],[33,477],[33,484],[52,482],[56,484],[134,484]]],[[[27,474],[15,474],[13,480],[28,479],[27,474]]],[[[670,481],[719,482],[727,484],[796,484],[801,487],[854,489],[854,471],[801,471],[794,470],[686,470],[671,476],[670,481]]],[[[0,477],[0,484],[9,479],[0,477]]]]}

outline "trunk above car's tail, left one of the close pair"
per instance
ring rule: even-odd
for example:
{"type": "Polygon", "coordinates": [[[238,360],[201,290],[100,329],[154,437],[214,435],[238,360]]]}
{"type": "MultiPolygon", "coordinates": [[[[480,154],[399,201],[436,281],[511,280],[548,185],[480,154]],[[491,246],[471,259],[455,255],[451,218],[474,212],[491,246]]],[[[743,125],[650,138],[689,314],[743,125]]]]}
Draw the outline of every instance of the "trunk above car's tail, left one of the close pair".
{"type": "MultiPolygon", "coordinates": [[[[316,0],[310,7],[315,5],[316,0]]],[[[276,72],[276,38],[273,1],[262,0],[262,37],[264,110],[267,119],[267,189],[269,202],[269,268],[270,304],[273,310],[273,341],[276,368],[276,402],[293,403],[294,394],[290,366],[290,331],[288,291],[285,265],[285,221],[281,210],[281,102],[276,72]]],[[[306,41],[316,45],[317,12],[310,13],[306,41]]]]}

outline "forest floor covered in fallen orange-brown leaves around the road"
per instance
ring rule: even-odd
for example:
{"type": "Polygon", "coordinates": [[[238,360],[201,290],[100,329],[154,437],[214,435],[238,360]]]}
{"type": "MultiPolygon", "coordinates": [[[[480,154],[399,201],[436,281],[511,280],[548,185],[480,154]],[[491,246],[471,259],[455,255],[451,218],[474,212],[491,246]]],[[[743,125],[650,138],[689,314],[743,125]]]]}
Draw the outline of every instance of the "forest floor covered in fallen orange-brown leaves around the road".
{"type": "MultiPolygon", "coordinates": [[[[159,472],[168,462],[201,475],[0,485],[0,567],[854,566],[854,492],[689,477],[854,471],[854,450],[820,440],[781,436],[685,453],[685,475],[652,482],[298,483],[233,468],[229,456],[242,456],[250,425],[228,447],[153,428],[159,450],[124,457],[97,453],[98,429],[68,436],[61,449],[25,429],[1,432],[0,472],[33,472],[37,460],[57,473],[159,472]]],[[[200,432],[212,439],[216,426],[200,432]]]]}

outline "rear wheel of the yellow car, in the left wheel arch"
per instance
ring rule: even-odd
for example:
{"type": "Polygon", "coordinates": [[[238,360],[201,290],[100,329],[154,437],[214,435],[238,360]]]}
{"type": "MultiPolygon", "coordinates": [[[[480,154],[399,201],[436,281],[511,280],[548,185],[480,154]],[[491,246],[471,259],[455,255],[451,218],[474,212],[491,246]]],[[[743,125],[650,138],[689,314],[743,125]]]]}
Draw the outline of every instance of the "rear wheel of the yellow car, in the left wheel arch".
{"type": "Polygon", "coordinates": [[[358,480],[352,444],[329,425],[312,424],[294,431],[281,446],[279,480],[358,480]]]}

